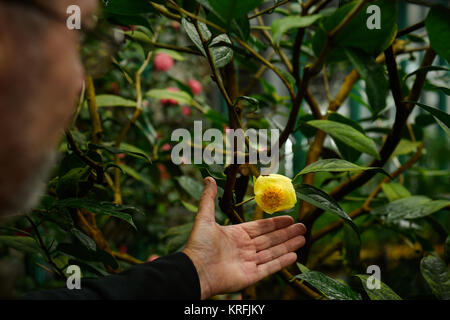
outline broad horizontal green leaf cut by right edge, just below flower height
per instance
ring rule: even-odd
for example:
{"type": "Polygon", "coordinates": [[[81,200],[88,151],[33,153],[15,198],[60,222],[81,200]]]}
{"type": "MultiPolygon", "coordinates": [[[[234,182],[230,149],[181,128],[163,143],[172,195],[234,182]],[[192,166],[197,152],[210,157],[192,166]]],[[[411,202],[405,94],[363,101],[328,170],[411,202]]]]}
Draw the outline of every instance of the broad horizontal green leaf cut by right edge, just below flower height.
{"type": "Polygon", "coordinates": [[[425,196],[411,196],[394,200],[372,210],[374,215],[385,215],[387,221],[426,217],[450,205],[449,200],[431,200],[425,196]]]}

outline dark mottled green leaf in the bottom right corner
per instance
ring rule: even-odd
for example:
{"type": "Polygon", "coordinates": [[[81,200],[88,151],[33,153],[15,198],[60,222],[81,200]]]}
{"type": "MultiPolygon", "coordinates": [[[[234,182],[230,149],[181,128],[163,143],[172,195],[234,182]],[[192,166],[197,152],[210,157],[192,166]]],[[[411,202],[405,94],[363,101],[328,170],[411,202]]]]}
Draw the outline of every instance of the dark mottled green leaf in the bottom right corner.
{"type": "Polygon", "coordinates": [[[450,271],[437,254],[430,254],[420,261],[420,272],[438,299],[450,299],[450,271]]]}

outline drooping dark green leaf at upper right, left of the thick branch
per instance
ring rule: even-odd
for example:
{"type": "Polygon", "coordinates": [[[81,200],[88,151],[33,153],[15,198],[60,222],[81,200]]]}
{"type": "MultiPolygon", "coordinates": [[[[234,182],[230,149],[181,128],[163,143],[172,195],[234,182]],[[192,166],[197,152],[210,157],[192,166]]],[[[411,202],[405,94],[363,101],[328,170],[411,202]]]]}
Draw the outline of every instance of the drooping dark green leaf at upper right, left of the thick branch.
{"type": "Polygon", "coordinates": [[[346,49],[345,54],[361,78],[364,79],[369,105],[373,113],[378,114],[386,107],[386,96],[389,90],[383,66],[376,63],[375,58],[360,50],[346,49]]]}

